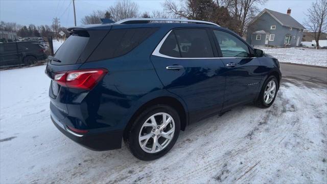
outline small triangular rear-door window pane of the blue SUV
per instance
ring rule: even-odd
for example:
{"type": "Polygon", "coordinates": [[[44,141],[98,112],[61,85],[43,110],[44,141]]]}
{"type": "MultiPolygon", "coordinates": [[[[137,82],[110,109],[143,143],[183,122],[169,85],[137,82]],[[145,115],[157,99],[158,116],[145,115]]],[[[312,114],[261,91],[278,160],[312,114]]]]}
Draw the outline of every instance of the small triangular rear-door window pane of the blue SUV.
{"type": "Polygon", "coordinates": [[[173,31],[168,35],[168,37],[165,39],[165,42],[161,45],[159,53],[170,57],[180,57],[177,41],[175,39],[175,33],[173,31]]]}

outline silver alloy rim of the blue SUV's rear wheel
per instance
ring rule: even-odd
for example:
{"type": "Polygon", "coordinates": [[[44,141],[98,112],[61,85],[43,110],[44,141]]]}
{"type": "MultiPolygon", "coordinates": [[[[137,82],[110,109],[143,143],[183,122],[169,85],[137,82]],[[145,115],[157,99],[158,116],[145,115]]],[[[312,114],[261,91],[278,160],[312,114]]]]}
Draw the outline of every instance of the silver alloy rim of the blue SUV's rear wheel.
{"type": "Polygon", "coordinates": [[[173,140],[175,122],[170,114],[153,114],[142,125],[138,135],[139,146],[147,153],[157,153],[165,149],[173,140]]]}

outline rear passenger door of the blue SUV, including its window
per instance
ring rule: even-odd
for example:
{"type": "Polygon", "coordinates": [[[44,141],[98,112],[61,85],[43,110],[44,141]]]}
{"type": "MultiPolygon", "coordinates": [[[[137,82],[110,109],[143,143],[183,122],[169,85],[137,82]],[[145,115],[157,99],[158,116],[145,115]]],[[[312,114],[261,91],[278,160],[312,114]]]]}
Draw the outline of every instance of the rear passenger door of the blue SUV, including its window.
{"type": "Polygon", "coordinates": [[[212,40],[206,29],[171,30],[151,56],[162,84],[188,106],[190,122],[222,109],[224,65],[212,40]]]}

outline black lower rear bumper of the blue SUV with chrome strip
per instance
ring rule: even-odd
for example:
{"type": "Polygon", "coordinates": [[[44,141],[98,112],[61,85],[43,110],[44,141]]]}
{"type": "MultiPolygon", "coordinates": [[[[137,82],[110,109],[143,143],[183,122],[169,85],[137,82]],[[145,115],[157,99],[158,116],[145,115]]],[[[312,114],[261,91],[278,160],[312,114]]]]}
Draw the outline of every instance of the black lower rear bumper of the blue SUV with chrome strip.
{"type": "Polygon", "coordinates": [[[67,129],[65,125],[56,120],[55,117],[51,116],[51,120],[53,124],[69,139],[88,149],[94,151],[105,151],[120,149],[122,147],[123,130],[94,134],[77,134],[67,129]]]}

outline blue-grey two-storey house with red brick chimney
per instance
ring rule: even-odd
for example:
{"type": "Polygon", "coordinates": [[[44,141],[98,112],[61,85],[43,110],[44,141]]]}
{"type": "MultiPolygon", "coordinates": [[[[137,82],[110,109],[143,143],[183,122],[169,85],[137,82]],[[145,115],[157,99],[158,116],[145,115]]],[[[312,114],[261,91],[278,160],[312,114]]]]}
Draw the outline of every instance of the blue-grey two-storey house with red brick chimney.
{"type": "Polygon", "coordinates": [[[287,14],[264,9],[250,22],[246,41],[251,45],[294,47],[300,44],[304,29],[291,17],[291,9],[287,14]]]}

